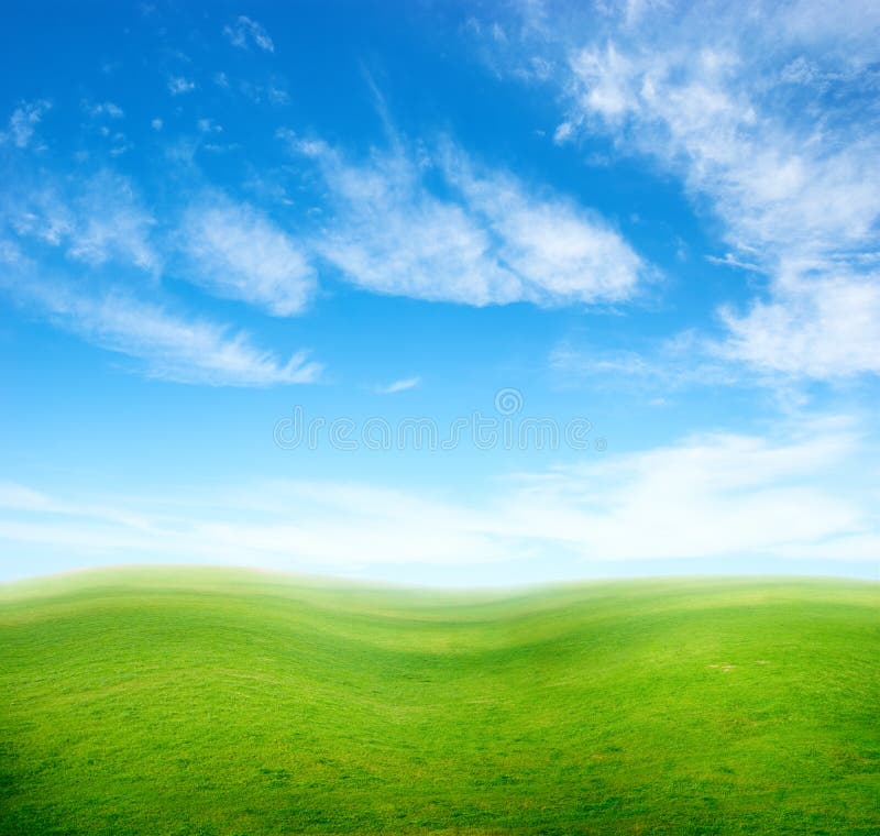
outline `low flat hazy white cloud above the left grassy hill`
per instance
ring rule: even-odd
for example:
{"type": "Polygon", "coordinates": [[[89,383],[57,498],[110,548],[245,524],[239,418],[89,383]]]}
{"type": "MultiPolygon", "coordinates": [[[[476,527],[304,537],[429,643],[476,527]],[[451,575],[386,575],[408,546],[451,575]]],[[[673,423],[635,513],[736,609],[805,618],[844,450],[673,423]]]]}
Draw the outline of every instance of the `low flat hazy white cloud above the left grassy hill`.
{"type": "MultiPolygon", "coordinates": [[[[31,490],[22,486],[16,493],[31,490]]],[[[507,557],[498,538],[481,534],[472,513],[377,485],[285,481],[209,490],[195,501],[187,492],[173,502],[48,502],[40,521],[29,518],[26,507],[0,514],[0,539],[38,544],[42,554],[65,540],[67,560],[76,554],[89,562],[103,557],[312,571],[402,563],[466,566],[507,557]]]]}

